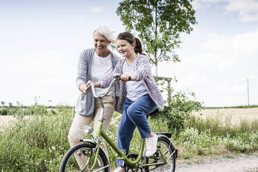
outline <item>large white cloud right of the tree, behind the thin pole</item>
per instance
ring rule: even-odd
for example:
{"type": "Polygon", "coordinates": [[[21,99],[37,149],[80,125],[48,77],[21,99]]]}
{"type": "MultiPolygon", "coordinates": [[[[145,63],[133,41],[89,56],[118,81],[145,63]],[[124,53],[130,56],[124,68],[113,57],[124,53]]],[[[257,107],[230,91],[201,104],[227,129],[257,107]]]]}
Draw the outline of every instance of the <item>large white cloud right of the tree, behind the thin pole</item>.
{"type": "Polygon", "coordinates": [[[182,62],[163,62],[160,76],[177,76],[178,90],[190,89],[206,106],[246,105],[247,78],[250,83],[250,103],[258,104],[258,29],[232,36],[212,33],[203,44],[195,44],[202,53],[181,56],[182,62]],[[169,71],[169,72],[168,72],[169,71]]]}

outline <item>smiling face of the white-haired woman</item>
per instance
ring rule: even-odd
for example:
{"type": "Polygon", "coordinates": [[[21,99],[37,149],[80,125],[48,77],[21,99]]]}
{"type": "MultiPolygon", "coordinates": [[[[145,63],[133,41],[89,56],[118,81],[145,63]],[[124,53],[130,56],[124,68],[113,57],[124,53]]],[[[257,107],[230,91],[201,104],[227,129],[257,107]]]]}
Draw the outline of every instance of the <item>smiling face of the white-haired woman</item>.
{"type": "Polygon", "coordinates": [[[103,37],[101,33],[98,33],[98,31],[96,31],[93,34],[93,40],[94,40],[94,47],[97,53],[101,51],[106,51],[108,44],[110,44],[110,41],[105,39],[105,37],[103,37]]]}

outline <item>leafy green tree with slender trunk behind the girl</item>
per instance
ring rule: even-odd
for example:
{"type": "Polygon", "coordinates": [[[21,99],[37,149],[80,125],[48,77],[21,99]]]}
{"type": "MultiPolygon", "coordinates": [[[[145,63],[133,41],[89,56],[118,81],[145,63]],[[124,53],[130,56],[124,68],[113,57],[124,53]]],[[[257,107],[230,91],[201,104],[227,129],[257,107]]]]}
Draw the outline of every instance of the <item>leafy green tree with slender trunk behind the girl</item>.
{"type": "Polygon", "coordinates": [[[190,33],[196,24],[193,0],[124,0],[119,3],[120,16],[127,31],[136,31],[150,63],[180,62],[175,49],[180,47],[180,33],[190,33]]]}

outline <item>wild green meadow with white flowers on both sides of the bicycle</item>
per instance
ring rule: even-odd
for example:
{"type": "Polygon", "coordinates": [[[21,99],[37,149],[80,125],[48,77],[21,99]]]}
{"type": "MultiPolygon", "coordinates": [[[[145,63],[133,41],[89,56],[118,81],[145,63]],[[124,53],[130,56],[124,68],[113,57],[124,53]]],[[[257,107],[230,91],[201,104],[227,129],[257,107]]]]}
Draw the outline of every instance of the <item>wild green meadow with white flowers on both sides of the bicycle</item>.
{"type": "MultiPolygon", "coordinates": [[[[0,127],[0,171],[58,171],[62,157],[69,149],[67,135],[71,126],[71,107],[35,105],[27,110],[17,108],[9,112],[16,117],[8,126],[0,127]]],[[[116,141],[121,114],[115,113],[108,135],[116,141]]],[[[178,130],[169,127],[170,118],[150,117],[153,131],[173,132],[171,140],[179,150],[179,159],[193,160],[196,156],[223,155],[258,150],[258,119],[241,120],[232,125],[230,119],[220,116],[205,119],[190,116],[178,130]]],[[[173,122],[172,122],[173,124],[173,122]]],[[[173,126],[173,125],[172,125],[173,126]]],[[[130,151],[137,153],[139,133],[136,130],[130,151]]],[[[112,167],[116,155],[107,146],[112,167]]]]}

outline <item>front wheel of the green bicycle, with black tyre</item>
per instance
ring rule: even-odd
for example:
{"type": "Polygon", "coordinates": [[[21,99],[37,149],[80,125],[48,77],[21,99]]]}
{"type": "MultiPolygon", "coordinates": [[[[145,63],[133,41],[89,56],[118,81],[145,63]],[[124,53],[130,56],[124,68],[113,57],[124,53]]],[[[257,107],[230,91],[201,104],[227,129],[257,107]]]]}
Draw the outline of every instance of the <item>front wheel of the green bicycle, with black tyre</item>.
{"type": "MultiPolygon", "coordinates": [[[[83,169],[83,171],[89,171],[96,157],[94,148],[92,144],[77,144],[71,147],[62,159],[60,172],[82,171],[83,169]],[[86,164],[88,164],[87,167],[85,167],[86,164]]],[[[102,149],[99,150],[98,161],[93,171],[110,172],[110,163],[102,149]]]]}

